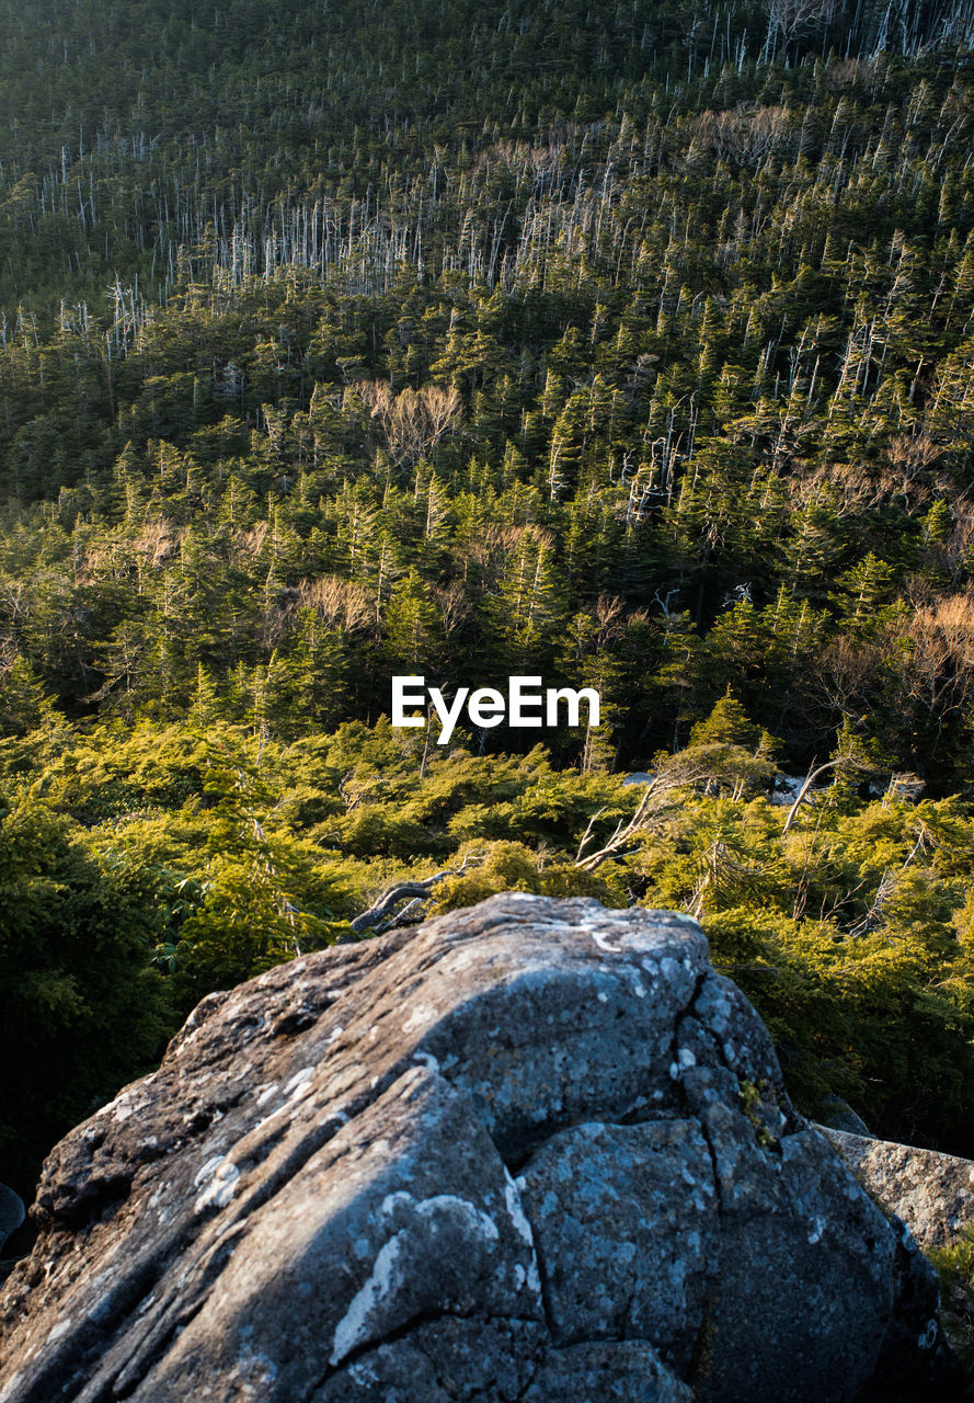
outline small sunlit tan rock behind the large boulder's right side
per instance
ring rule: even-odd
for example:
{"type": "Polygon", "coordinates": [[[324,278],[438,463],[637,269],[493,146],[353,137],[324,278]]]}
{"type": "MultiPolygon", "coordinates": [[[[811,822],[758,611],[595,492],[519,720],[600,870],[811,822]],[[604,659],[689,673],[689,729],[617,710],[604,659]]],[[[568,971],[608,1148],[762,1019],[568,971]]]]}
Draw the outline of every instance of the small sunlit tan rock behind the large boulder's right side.
{"type": "Polygon", "coordinates": [[[908,1225],[926,1251],[974,1228],[974,1160],[824,1128],[859,1181],[908,1225]]]}

